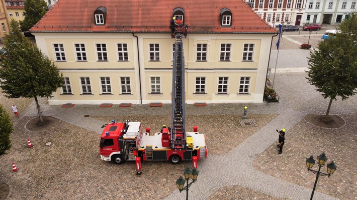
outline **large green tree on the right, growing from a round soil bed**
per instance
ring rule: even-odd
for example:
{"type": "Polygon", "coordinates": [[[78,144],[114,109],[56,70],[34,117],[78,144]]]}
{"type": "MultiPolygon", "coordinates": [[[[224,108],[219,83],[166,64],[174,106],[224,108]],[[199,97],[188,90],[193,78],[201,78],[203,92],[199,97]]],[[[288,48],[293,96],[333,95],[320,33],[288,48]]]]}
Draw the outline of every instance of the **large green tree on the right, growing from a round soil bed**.
{"type": "Polygon", "coordinates": [[[356,94],[357,88],[357,14],[344,20],[339,30],[335,38],[320,42],[308,59],[308,82],[330,98],[326,117],[337,96],[343,101],[356,94]]]}

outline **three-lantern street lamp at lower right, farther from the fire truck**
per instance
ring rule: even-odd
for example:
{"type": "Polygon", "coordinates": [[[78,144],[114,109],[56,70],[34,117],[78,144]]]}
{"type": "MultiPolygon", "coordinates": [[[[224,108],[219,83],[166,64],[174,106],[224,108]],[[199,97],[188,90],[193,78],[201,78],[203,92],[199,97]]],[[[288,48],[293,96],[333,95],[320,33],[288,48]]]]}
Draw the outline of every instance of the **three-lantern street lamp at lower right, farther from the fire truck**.
{"type": "Polygon", "coordinates": [[[314,157],[311,155],[309,158],[306,158],[307,170],[312,171],[314,174],[316,174],[316,180],[315,180],[314,188],[312,189],[310,200],[312,200],[312,197],[314,196],[316,183],[317,183],[317,179],[319,178],[319,176],[327,175],[328,177],[330,177],[330,175],[333,174],[333,172],[335,172],[335,170],[337,169],[335,163],[332,160],[330,163],[327,164],[327,173],[320,172],[320,169],[322,166],[325,165],[326,160],[327,160],[327,157],[325,155],[325,152],[323,152],[321,155],[317,156],[317,164],[319,165],[319,170],[315,171],[315,170],[311,169],[311,167],[314,166],[314,164],[315,164],[314,157]]]}

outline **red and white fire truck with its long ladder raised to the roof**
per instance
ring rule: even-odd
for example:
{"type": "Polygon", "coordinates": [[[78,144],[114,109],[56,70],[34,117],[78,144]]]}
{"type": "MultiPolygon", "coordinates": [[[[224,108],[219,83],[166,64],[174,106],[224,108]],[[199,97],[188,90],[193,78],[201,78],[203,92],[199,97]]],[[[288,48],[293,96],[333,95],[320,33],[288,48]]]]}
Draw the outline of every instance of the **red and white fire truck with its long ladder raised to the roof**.
{"type": "Polygon", "coordinates": [[[169,160],[172,164],[182,160],[207,158],[205,134],[197,126],[186,132],[185,124],[185,59],[183,38],[187,36],[187,25],[176,25],[171,38],[175,39],[172,65],[171,126],[150,134],[150,128],[142,132],[140,122],[106,124],[101,135],[100,155],[105,161],[122,164],[125,161],[169,160]]]}

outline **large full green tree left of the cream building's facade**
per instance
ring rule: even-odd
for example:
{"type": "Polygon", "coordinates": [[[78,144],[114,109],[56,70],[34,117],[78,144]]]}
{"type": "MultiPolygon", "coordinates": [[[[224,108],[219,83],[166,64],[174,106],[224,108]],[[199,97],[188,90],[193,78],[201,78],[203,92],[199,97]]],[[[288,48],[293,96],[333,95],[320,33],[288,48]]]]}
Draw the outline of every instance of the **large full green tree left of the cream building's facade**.
{"type": "Polygon", "coordinates": [[[21,33],[18,22],[12,20],[10,25],[12,33],[4,39],[7,55],[2,58],[0,67],[0,88],[8,98],[35,98],[39,123],[44,124],[37,97],[52,97],[52,92],[62,86],[62,74],[21,33]]]}

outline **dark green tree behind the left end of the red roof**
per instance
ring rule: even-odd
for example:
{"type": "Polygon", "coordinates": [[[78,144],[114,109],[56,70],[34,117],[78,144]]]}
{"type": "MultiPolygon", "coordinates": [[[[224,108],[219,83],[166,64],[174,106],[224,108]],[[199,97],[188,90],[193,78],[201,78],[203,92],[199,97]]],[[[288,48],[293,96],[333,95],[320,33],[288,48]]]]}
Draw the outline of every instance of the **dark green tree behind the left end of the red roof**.
{"type": "Polygon", "coordinates": [[[27,0],[25,2],[25,19],[21,21],[21,31],[30,30],[47,13],[48,6],[43,0],[27,0]]]}

